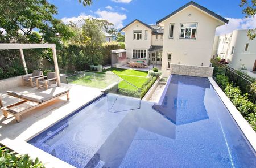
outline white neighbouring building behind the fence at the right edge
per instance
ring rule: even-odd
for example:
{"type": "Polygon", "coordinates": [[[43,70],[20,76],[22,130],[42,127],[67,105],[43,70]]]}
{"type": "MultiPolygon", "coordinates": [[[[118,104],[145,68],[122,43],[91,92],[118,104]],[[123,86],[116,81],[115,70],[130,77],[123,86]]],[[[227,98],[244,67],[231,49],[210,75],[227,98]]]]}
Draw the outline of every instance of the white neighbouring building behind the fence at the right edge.
{"type": "Polygon", "coordinates": [[[216,36],[217,54],[237,70],[256,71],[256,39],[250,40],[247,32],[248,30],[235,30],[216,36]]]}

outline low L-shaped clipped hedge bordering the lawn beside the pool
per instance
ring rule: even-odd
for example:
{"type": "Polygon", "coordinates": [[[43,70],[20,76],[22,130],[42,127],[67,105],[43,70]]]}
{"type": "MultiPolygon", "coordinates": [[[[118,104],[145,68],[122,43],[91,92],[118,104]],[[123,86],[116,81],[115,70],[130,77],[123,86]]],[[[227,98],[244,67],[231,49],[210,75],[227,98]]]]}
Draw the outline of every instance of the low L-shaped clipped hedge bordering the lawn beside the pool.
{"type": "Polygon", "coordinates": [[[130,97],[137,97],[137,98],[142,99],[145,96],[145,94],[147,93],[147,91],[155,83],[156,79],[157,79],[157,77],[150,76],[148,78],[148,80],[138,90],[129,90],[129,89],[118,88],[118,94],[130,96],[130,97]]]}

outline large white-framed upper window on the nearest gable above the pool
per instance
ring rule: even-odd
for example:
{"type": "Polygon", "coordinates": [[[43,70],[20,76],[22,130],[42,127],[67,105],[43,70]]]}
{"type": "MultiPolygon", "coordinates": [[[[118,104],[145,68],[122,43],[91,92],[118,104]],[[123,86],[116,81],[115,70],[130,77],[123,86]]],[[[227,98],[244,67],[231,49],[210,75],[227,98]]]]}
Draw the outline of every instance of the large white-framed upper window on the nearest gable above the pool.
{"type": "Polygon", "coordinates": [[[180,38],[195,39],[197,23],[181,23],[180,38]]]}

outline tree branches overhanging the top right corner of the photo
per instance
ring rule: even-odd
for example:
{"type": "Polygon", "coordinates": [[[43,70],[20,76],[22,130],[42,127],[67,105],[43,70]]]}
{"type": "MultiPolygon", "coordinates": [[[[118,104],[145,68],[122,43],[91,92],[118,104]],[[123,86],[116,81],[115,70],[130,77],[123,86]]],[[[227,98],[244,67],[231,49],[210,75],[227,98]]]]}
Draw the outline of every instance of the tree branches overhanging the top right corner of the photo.
{"type": "MultiPolygon", "coordinates": [[[[245,17],[253,18],[256,14],[256,0],[241,0],[240,7],[243,8],[242,12],[245,14],[245,17]]],[[[256,38],[256,28],[250,29],[247,33],[250,40],[256,38]]]]}

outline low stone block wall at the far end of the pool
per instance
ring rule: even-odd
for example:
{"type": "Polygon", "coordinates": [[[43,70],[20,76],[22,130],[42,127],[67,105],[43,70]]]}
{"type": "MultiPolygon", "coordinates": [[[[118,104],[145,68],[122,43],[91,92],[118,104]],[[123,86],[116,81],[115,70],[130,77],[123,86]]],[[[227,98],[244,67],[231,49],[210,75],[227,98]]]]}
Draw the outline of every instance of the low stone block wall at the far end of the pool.
{"type": "Polygon", "coordinates": [[[212,77],[213,67],[187,66],[183,64],[171,64],[170,73],[176,75],[188,75],[198,77],[212,77]]]}

